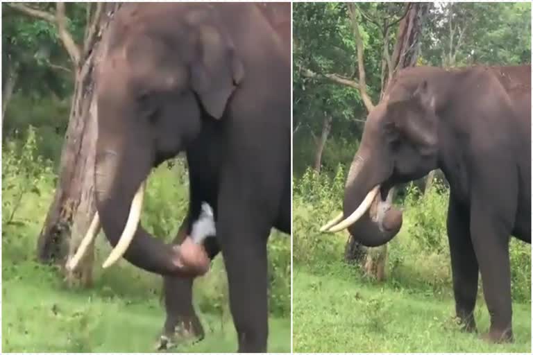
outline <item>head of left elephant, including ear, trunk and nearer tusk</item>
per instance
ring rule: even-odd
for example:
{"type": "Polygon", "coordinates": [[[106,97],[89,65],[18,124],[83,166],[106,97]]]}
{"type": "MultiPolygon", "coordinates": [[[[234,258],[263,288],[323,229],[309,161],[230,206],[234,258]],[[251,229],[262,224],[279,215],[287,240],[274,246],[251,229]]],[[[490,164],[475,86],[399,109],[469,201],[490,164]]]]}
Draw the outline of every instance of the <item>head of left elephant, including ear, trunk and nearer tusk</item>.
{"type": "Polygon", "coordinates": [[[118,243],[104,266],[124,255],[144,270],[178,273],[178,248],[143,229],[140,209],[151,168],[187,149],[205,120],[223,120],[244,78],[230,37],[208,11],[181,21],[146,12],[134,26],[138,14],[126,12],[115,21],[96,92],[96,207],[105,236],[118,243]]]}

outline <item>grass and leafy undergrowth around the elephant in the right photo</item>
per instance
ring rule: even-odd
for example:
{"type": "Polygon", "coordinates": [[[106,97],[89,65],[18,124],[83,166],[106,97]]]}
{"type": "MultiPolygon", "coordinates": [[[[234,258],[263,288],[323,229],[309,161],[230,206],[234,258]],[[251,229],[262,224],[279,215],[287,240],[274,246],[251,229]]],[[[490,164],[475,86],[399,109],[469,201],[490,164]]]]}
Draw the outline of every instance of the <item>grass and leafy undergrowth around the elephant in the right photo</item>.
{"type": "MultiPolygon", "coordinates": [[[[455,316],[446,235],[448,191],[407,190],[403,226],[377,282],[344,262],[347,232],[321,234],[339,211],[344,173],[305,173],[293,196],[294,352],[531,352],[531,245],[511,240],[515,343],[493,345],[461,331],[455,316]]],[[[377,249],[372,254],[377,254],[377,249]]],[[[475,318],[489,329],[481,282],[475,318]]]]}

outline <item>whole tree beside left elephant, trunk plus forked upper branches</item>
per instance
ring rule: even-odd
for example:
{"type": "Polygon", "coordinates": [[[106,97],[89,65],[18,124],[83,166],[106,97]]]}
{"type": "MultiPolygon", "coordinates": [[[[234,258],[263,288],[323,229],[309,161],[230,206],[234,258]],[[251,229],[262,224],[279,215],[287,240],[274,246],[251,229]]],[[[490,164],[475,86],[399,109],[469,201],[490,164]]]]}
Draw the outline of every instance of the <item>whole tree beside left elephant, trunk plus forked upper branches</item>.
{"type": "MultiPolygon", "coordinates": [[[[74,76],[69,125],[62,148],[58,186],[37,241],[37,257],[44,263],[64,266],[87,231],[94,205],[94,152],[96,145],[96,101],[93,73],[103,55],[105,29],[119,3],[56,3],[49,5],[10,3],[12,9],[33,19],[46,21],[69,55],[74,76]],[[52,12],[53,11],[53,12],[52,12]],[[72,31],[74,19],[85,19],[81,33],[72,31]]],[[[80,268],[67,273],[67,279],[92,283],[94,250],[87,252],[80,268]]]]}

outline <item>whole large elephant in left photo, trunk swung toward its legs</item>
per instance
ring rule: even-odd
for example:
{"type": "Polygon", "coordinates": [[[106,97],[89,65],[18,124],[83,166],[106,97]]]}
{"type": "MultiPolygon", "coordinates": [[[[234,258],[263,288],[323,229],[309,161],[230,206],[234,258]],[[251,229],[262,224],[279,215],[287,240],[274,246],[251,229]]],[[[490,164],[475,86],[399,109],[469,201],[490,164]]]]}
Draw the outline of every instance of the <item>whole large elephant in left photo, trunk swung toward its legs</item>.
{"type": "Polygon", "coordinates": [[[96,73],[94,227],[115,247],[105,266],[124,257],[162,275],[164,329],[201,329],[192,282],[205,270],[178,243],[208,203],[217,235],[202,249],[223,254],[239,352],[267,350],[267,241],[271,228],[290,234],[290,16],[290,3],[126,3],[96,73]],[[165,244],[139,222],[142,191],[180,152],[189,211],[165,244]]]}

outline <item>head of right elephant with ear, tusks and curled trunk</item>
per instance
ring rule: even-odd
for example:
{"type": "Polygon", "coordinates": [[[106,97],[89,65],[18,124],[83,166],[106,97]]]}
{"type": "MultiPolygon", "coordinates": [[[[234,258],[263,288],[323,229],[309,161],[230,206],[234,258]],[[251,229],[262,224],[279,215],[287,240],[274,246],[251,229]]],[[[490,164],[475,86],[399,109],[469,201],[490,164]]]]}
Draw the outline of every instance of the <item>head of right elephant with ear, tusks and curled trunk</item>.
{"type": "Polygon", "coordinates": [[[394,186],[437,167],[435,96],[427,81],[410,84],[391,83],[369,113],[346,179],[344,213],[323,231],[348,228],[369,247],[387,243],[400,231],[402,212],[392,205],[394,186]]]}

